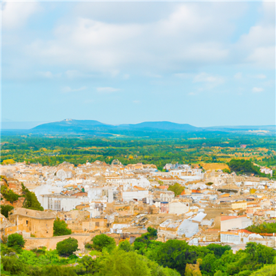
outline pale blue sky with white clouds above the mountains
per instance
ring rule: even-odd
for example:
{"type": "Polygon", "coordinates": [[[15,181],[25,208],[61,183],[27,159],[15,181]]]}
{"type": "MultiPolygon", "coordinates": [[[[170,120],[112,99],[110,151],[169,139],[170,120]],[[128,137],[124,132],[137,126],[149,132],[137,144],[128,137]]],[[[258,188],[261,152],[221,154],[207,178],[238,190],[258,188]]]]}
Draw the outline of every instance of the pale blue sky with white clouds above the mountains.
{"type": "Polygon", "coordinates": [[[275,1],[2,1],[1,117],[275,124],[275,1]]]}

